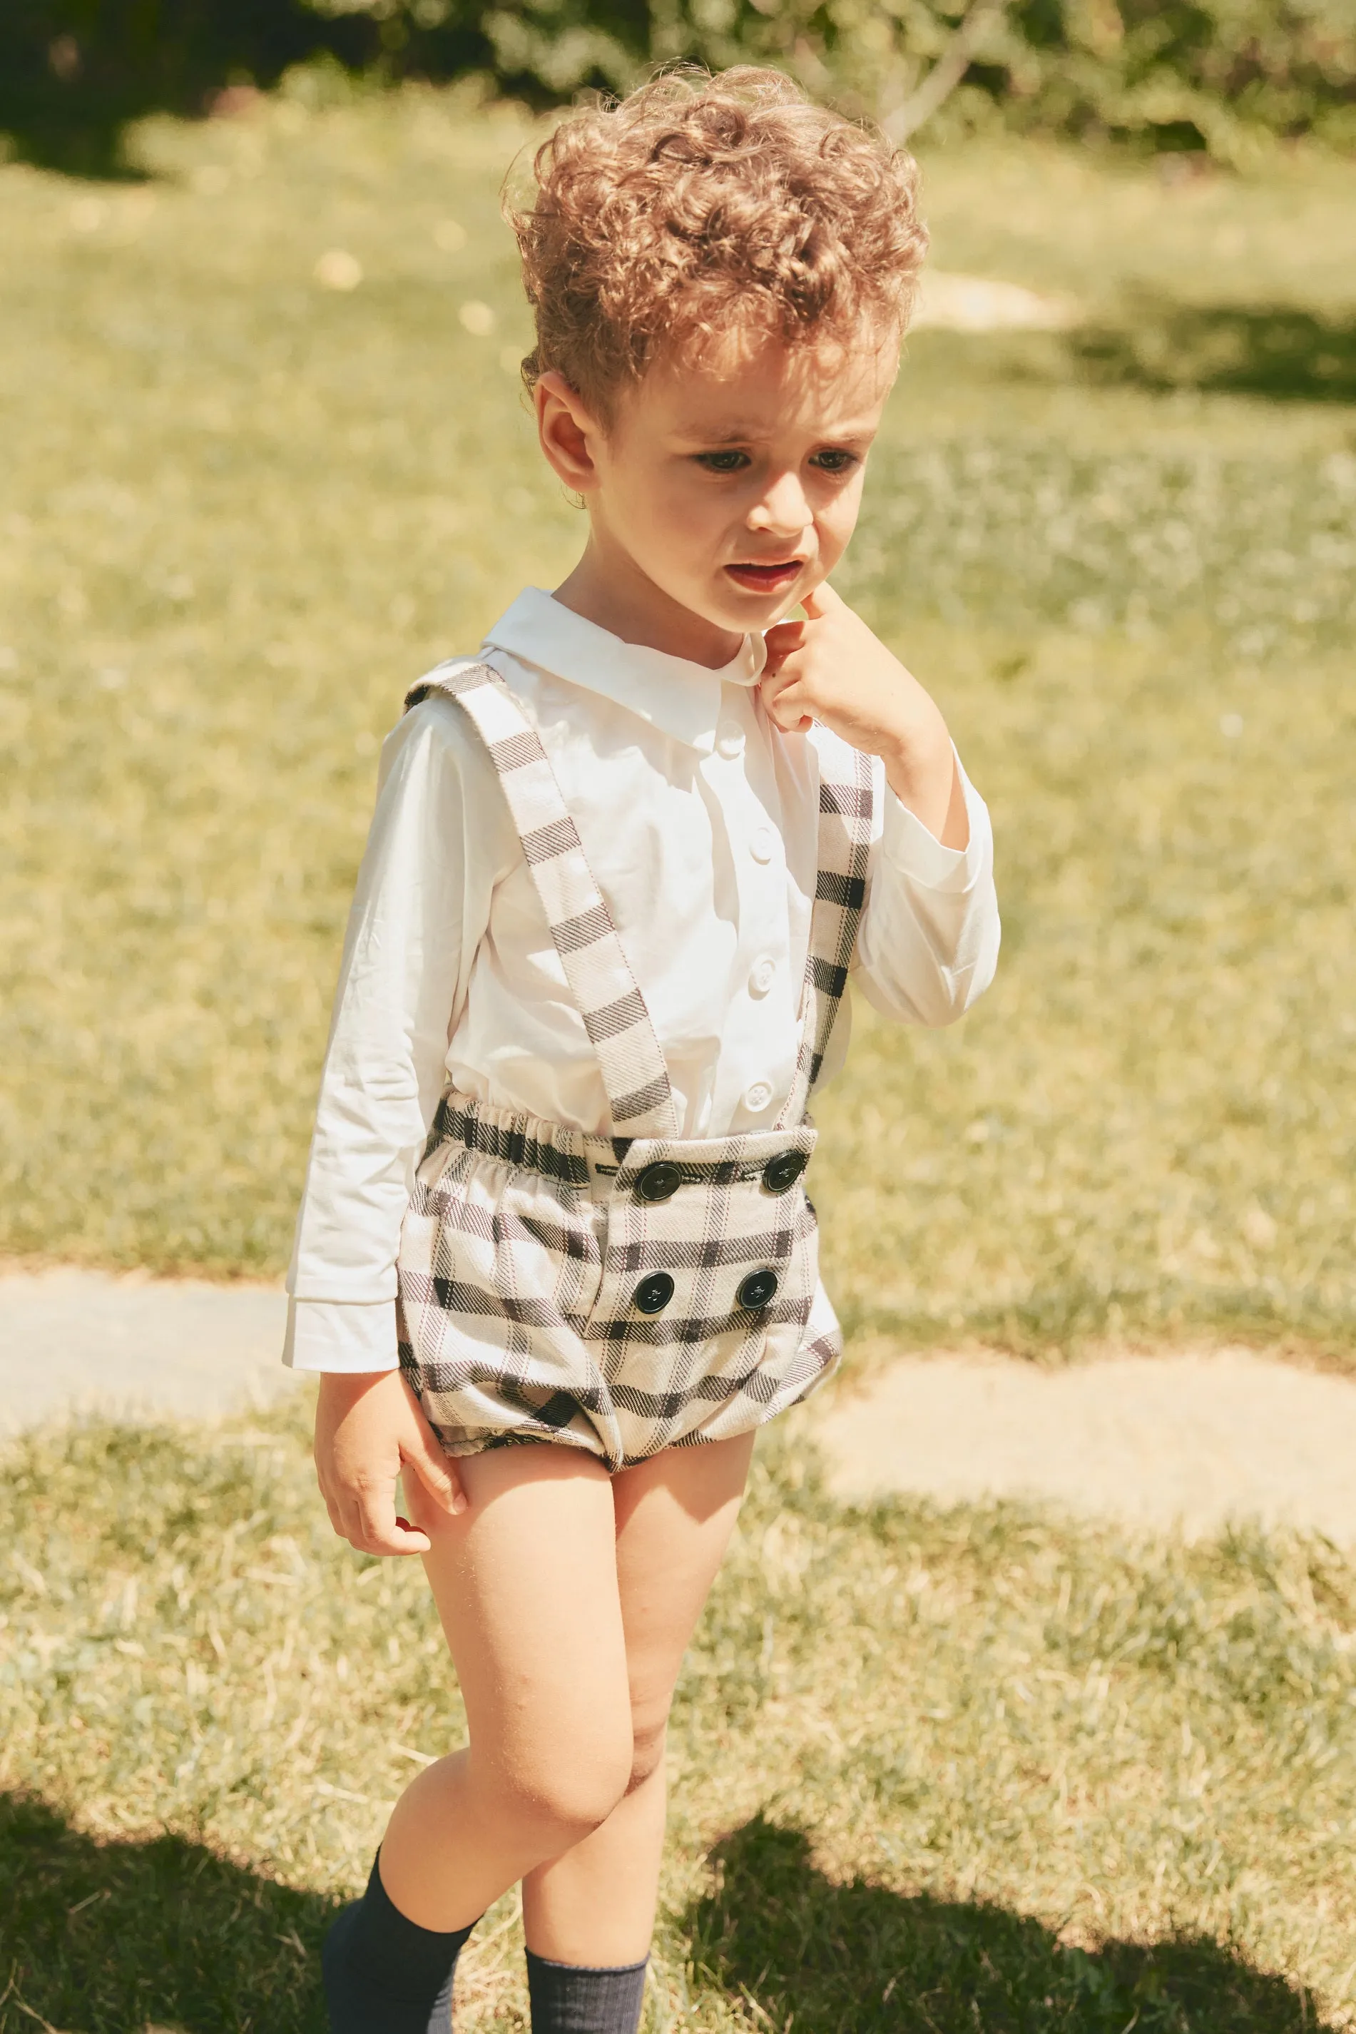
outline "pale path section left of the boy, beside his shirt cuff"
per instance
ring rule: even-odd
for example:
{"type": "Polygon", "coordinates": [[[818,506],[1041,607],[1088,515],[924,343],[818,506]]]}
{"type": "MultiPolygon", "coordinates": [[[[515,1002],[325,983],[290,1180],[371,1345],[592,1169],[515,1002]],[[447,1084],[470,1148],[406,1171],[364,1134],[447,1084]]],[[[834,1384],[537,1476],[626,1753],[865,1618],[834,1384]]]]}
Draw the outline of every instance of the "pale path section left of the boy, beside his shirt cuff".
{"type": "Polygon", "coordinates": [[[287,1389],[287,1298],[108,1271],[0,1277],[0,1434],[73,1412],[197,1418],[287,1389]]]}

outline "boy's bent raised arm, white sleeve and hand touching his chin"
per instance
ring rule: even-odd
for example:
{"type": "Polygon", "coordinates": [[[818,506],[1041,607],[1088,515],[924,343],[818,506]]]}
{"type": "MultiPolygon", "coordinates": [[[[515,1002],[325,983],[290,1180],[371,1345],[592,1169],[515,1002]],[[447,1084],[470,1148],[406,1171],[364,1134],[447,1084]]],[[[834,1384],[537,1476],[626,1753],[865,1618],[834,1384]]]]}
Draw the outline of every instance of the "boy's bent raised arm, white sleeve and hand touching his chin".
{"type": "Polygon", "coordinates": [[[829,588],[803,622],[768,631],[762,698],[787,732],[823,722],[880,757],[886,793],[856,978],[882,1015],[945,1025],[988,989],[998,962],[994,850],[937,704],[829,588]]]}

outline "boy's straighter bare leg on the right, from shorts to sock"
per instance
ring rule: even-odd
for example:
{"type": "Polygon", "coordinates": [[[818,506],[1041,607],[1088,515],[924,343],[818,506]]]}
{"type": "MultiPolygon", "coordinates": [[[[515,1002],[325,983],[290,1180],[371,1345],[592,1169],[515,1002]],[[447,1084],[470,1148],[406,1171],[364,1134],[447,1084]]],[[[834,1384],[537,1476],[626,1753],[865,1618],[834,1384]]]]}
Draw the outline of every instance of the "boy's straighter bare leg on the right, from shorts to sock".
{"type": "MultiPolygon", "coordinates": [[[[754,1436],[667,1448],[612,1479],[632,1766],[626,1798],[522,1879],[529,1947],[553,1963],[638,1963],[665,1841],[665,1731],[683,1652],[738,1517],[754,1436]]],[[[569,1753],[567,1753],[569,1755],[569,1753]]]]}

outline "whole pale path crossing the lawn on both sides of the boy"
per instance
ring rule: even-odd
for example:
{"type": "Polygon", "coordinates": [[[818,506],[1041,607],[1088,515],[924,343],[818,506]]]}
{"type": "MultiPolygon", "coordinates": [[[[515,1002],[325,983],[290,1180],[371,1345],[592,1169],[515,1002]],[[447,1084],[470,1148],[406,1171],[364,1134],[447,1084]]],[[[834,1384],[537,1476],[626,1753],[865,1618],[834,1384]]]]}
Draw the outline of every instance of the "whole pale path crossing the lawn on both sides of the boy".
{"type": "MultiPolygon", "coordinates": [[[[211,1418],[297,1387],[272,1285],[0,1275],[0,1434],[63,1414],[211,1418]]],[[[1356,1381],[1240,1349],[1043,1371],[901,1357],[795,1416],[846,1499],[1031,1497],[1187,1534],[1291,1521],[1356,1546],[1356,1381]]]]}

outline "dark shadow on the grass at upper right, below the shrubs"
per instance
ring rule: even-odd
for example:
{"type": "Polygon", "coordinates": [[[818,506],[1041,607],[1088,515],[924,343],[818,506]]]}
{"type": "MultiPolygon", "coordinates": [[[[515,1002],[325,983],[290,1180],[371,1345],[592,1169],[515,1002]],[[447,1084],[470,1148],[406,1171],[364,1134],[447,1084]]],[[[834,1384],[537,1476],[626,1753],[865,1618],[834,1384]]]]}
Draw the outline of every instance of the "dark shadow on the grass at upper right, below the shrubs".
{"type": "Polygon", "coordinates": [[[1098,382],[1356,403],[1356,321],[1287,305],[1138,301],[1116,330],[1075,334],[1073,354],[1098,382]]]}

